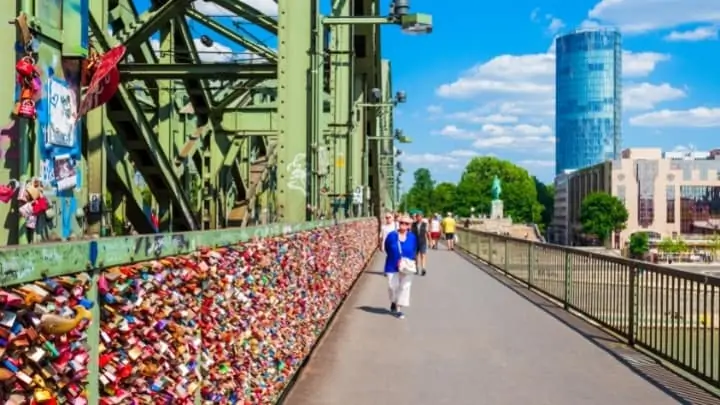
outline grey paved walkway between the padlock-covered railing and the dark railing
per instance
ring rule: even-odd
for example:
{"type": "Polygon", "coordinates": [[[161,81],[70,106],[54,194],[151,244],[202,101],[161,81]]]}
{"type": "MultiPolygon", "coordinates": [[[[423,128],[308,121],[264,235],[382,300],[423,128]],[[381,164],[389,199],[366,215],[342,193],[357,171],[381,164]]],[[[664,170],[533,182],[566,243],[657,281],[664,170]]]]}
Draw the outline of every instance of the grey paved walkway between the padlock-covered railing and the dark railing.
{"type": "Polygon", "coordinates": [[[457,253],[432,251],[428,267],[399,320],[376,259],[285,405],[720,403],[686,402],[695,386],[686,401],[656,388],[593,343],[612,339],[572,329],[457,253]]]}

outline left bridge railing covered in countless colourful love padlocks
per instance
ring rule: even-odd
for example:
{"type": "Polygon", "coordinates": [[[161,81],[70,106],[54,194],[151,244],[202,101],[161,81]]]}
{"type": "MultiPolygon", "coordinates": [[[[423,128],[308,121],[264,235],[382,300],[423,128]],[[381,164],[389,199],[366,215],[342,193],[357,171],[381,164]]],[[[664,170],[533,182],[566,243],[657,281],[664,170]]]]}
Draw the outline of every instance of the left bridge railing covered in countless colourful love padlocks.
{"type": "Polygon", "coordinates": [[[0,249],[0,382],[12,387],[0,402],[272,403],[372,257],[377,226],[0,249]]]}

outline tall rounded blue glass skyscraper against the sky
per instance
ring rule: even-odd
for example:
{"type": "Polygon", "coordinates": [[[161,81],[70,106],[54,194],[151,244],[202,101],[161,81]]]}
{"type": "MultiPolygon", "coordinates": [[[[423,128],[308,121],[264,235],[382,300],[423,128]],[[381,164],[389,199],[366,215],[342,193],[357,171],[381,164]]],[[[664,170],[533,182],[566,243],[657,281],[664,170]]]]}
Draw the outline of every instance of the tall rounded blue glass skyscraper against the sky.
{"type": "Polygon", "coordinates": [[[556,39],[555,170],[620,157],[622,40],[615,30],[583,30],[556,39]]]}

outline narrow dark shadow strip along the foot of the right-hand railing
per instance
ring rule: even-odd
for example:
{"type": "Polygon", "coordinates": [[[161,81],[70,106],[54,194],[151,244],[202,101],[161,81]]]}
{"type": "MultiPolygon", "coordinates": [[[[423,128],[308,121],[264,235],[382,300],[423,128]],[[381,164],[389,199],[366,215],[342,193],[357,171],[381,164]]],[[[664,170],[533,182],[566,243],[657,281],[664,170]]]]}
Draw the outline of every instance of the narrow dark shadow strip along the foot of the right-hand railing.
{"type": "MultiPolygon", "coordinates": [[[[478,270],[486,273],[504,287],[510,289],[548,315],[562,322],[589,342],[613,356],[627,368],[639,375],[679,404],[683,405],[717,405],[720,398],[704,387],[677,374],[653,357],[634,349],[612,334],[576,316],[553,301],[530,290],[526,284],[500,270],[478,260],[462,250],[457,253],[475,265],[478,270]]],[[[572,370],[568,370],[572,372],[572,370]]]]}

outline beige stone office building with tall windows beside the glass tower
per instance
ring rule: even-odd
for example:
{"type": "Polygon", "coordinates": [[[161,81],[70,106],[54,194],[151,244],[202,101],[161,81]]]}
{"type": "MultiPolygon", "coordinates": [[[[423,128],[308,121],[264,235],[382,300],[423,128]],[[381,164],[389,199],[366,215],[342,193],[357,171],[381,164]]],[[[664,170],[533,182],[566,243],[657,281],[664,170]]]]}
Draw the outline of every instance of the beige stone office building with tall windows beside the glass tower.
{"type": "Polygon", "coordinates": [[[613,238],[621,248],[635,232],[651,241],[682,235],[697,239],[720,231],[720,150],[667,152],[626,149],[620,159],[564,175],[565,210],[556,210],[554,232],[565,244],[584,244],[580,208],[588,194],[607,192],[628,210],[627,227],[613,238]],[[562,228],[567,224],[566,228],[562,228]]]}

